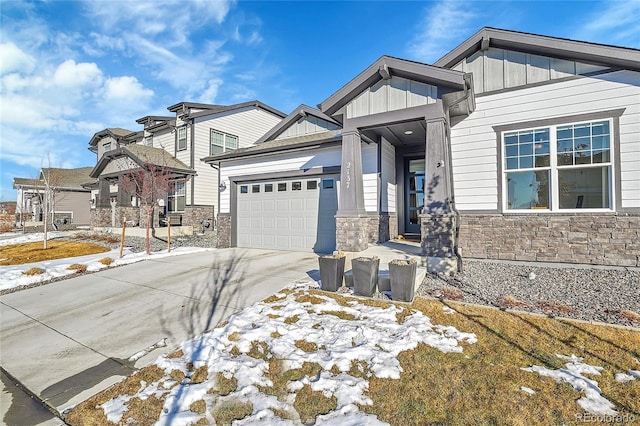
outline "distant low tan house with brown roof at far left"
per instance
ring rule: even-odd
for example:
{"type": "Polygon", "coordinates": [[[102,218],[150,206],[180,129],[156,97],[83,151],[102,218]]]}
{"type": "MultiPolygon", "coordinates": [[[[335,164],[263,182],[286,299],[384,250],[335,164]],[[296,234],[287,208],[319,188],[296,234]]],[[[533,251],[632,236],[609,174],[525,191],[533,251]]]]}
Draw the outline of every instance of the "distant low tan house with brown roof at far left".
{"type": "Polygon", "coordinates": [[[43,168],[38,179],[14,178],[16,221],[19,224],[42,222],[44,197],[49,192],[52,198],[48,200],[47,210],[54,224],[89,225],[91,191],[86,185],[94,180],[89,176],[92,169],[43,168]]]}

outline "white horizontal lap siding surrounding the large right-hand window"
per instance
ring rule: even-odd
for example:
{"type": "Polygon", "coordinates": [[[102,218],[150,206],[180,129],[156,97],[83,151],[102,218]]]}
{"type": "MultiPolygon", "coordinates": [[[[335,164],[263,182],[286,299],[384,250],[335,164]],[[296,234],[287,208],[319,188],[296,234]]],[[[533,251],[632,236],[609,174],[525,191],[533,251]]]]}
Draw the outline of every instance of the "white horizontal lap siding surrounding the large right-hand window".
{"type": "Polygon", "coordinates": [[[476,110],[451,129],[456,206],[498,208],[498,142],[493,126],[625,108],[620,117],[621,205],[640,208],[640,73],[617,71],[476,98],[476,110]]]}

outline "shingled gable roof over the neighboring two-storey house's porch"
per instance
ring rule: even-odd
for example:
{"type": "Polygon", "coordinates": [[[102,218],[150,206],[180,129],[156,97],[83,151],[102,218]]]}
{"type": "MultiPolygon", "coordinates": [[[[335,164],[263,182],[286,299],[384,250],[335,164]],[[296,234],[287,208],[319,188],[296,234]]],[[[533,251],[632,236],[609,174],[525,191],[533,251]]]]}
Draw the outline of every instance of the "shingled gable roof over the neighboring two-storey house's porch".
{"type": "Polygon", "coordinates": [[[140,167],[146,164],[153,164],[175,172],[179,175],[195,175],[196,172],[190,169],[182,161],[169,154],[161,148],[153,148],[151,146],[132,144],[126,145],[108,152],[105,152],[98,164],[91,170],[90,176],[97,178],[107,167],[111,160],[128,157],[140,167]]]}

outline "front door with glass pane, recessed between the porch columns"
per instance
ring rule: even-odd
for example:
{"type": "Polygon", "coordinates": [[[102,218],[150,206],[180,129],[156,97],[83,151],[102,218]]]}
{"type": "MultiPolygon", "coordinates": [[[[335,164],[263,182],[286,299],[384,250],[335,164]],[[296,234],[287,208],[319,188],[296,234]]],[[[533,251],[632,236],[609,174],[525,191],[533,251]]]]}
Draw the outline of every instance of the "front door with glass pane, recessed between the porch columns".
{"type": "Polygon", "coordinates": [[[420,235],[420,218],[424,208],[424,158],[405,162],[404,230],[406,234],[420,235]]]}

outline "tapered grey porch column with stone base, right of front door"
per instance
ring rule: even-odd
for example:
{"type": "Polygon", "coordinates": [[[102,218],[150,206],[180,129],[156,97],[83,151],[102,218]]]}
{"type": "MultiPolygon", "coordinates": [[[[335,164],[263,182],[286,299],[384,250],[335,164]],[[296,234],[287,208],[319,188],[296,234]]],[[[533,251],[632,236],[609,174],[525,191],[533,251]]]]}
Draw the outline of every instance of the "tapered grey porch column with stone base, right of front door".
{"type": "Polygon", "coordinates": [[[425,200],[420,215],[422,254],[430,272],[457,271],[456,220],[452,210],[452,170],[444,118],[427,120],[425,200]]]}

